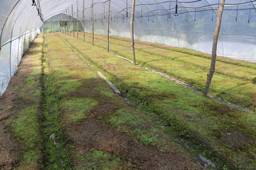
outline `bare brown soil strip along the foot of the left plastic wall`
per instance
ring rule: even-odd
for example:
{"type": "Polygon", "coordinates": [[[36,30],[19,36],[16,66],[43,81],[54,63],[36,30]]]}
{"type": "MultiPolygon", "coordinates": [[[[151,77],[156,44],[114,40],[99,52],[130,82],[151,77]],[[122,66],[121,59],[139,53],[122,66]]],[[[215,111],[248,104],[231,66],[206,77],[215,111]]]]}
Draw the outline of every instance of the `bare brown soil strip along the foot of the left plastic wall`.
{"type": "Polygon", "coordinates": [[[36,38],[30,45],[30,49],[24,54],[18,66],[18,72],[11,79],[7,90],[0,99],[0,169],[13,169],[20,163],[22,145],[11,135],[11,129],[6,120],[18,116],[19,111],[31,104],[29,96],[20,92],[20,89],[26,85],[25,80],[32,72],[33,62],[30,55],[39,41],[41,41],[40,38],[36,38]]]}

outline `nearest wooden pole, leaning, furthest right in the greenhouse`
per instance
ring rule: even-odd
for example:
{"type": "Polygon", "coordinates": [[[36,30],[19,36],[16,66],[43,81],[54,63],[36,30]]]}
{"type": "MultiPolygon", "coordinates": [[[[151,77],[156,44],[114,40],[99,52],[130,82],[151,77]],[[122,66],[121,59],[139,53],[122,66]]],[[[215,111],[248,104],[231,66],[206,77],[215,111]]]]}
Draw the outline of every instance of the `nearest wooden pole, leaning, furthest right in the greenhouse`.
{"type": "Polygon", "coordinates": [[[209,74],[207,75],[207,81],[206,81],[204,91],[203,91],[204,96],[207,95],[209,87],[210,87],[211,79],[214,76],[216,56],[217,56],[217,43],[218,43],[219,32],[220,32],[220,27],[221,27],[221,18],[222,18],[224,3],[225,3],[225,0],[221,0],[220,6],[218,9],[217,23],[216,23],[215,33],[214,33],[214,41],[212,42],[210,70],[209,70],[209,74]]]}

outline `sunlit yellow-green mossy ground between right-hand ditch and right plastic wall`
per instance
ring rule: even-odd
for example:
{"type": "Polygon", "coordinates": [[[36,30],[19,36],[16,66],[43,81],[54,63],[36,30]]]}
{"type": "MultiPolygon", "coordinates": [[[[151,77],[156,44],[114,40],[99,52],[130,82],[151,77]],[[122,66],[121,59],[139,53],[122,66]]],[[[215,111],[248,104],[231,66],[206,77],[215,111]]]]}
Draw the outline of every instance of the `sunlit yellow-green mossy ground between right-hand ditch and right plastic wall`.
{"type": "MultiPolygon", "coordinates": [[[[86,33],[86,36],[91,37],[91,34],[86,33]]],[[[80,37],[82,37],[81,33],[80,37]]],[[[97,42],[95,45],[106,48],[106,36],[95,35],[95,42],[97,42]]],[[[132,59],[130,39],[111,36],[110,42],[112,52],[132,59]]],[[[201,91],[204,89],[210,67],[210,55],[143,41],[136,41],[135,50],[137,50],[136,61],[142,66],[157,69],[201,91]]],[[[254,63],[218,57],[210,92],[234,104],[254,110],[256,106],[255,68],[254,63]]]]}

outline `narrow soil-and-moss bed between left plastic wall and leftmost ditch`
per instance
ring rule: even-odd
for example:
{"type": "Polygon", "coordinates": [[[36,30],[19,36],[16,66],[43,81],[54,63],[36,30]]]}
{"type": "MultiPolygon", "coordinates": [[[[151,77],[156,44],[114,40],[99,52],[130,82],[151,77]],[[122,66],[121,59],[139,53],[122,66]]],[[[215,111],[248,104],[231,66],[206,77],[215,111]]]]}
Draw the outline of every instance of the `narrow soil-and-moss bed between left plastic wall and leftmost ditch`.
{"type": "Polygon", "coordinates": [[[0,98],[0,169],[39,169],[41,51],[38,35],[24,54],[18,72],[0,98]]]}

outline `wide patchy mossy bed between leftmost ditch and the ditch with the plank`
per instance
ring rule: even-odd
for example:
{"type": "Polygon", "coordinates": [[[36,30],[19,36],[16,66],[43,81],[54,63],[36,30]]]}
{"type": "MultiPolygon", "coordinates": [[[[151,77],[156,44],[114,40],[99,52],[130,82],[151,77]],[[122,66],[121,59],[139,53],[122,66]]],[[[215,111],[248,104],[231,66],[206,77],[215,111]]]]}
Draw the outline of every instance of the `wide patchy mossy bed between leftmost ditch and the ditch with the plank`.
{"type": "Polygon", "coordinates": [[[71,166],[175,168],[172,160],[176,159],[180,167],[200,168],[195,163],[189,165],[191,160],[184,151],[114,94],[65,42],[55,34],[46,34],[46,41],[63,134],[73,148],[71,166]],[[159,160],[164,163],[158,164],[159,160]]]}

